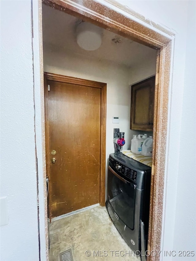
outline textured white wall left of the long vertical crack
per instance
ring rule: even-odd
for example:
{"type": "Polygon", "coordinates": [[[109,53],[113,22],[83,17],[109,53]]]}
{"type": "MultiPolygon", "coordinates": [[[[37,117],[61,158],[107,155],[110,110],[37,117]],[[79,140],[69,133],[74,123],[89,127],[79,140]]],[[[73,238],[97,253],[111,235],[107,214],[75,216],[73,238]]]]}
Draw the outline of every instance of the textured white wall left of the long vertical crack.
{"type": "Polygon", "coordinates": [[[31,2],[1,1],[1,197],[3,260],[39,260],[31,2]]]}

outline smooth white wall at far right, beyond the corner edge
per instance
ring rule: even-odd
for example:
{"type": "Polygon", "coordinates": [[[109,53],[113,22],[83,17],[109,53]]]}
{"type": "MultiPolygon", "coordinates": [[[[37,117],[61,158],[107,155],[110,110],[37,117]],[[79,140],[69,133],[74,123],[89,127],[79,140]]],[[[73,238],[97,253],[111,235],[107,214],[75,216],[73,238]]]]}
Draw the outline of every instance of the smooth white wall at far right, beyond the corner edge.
{"type": "MultiPolygon", "coordinates": [[[[196,250],[196,2],[189,2],[174,249],[196,250]],[[190,67],[189,67],[190,66],[190,67]],[[188,128],[187,128],[188,126],[188,128]],[[185,156],[186,155],[186,156],[185,156]]],[[[196,254],[196,253],[195,253],[196,254]]],[[[174,260],[179,260],[176,255],[174,260]]],[[[180,260],[195,260],[195,256],[180,260]]]]}

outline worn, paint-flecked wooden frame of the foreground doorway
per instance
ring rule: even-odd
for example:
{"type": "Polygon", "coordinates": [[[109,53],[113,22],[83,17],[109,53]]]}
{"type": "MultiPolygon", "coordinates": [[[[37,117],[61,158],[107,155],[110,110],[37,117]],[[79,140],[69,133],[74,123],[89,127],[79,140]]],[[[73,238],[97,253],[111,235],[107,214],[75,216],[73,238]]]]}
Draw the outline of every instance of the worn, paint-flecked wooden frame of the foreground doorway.
{"type": "MultiPolygon", "coordinates": [[[[123,10],[123,7],[123,12],[129,13],[132,18],[128,18],[122,13],[118,13],[93,0],[43,0],[42,2],[54,9],[78,17],[83,21],[91,22],[118,35],[157,50],[148,250],[158,252],[160,251],[161,234],[163,230],[164,180],[167,169],[167,148],[165,144],[167,144],[169,124],[168,106],[171,82],[171,58],[173,55],[175,35],[173,32],[170,32],[156,23],[152,22],[151,25],[148,25],[142,20],[141,16],[138,15],[138,17],[135,18],[135,16],[137,16],[136,13],[131,12],[130,9],[123,10]],[[138,22],[138,20],[140,22],[138,22]]],[[[115,5],[114,1],[114,8],[115,5]]],[[[118,4],[117,7],[120,9],[120,4],[118,4]]],[[[41,23],[42,13],[40,12],[40,24],[41,23]]],[[[42,29],[40,29],[40,46],[42,47],[42,29]]],[[[43,54],[40,53],[40,55],[41,59],[43,59],[43,54]]],[[[43,84],[43,79],[41,80],[43,84]]],[[[43,109],[44,105],[42,105],[42,115],[43,109]]],[[[45,136],[43,140],[44,138],[45,136]]],[[[44,160],[43,164],[45,164],[44,160]]],[[[43,177],[45,178],[45,168],[43,172],[43,177]]],[[[150,255],[147,260],[160,260],[160,256],[150,255]]]]}

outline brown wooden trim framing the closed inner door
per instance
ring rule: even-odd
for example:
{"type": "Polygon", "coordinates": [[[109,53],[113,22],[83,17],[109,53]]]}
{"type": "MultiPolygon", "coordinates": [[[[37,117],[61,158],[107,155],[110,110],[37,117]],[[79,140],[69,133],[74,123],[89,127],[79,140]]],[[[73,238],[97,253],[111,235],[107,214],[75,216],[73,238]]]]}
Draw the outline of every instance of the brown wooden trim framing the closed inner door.
{"type": "MultiPolygon", "coordinates": [[[[56,82],[62,82],[66,84],[74,84],[91,88],[99,88],[101,91],[101,103],[100,103],[100,184],[99,184],[99,204],[100,206],[105,205],[105,172],[106,172],[106,89],[107,84],[85,80],[70,76],[64,76],[55,73],[46,73],[44,72],[44,89],[45,89],[45,138],[46,138],[46,167],[47,173],[50,171],[49,169],[49,121],[47,114],[47,80],[52,80],[56,82]]],[[[49,191],[50,193],[50,191],[49,191]]],[[[51,211],[50,211],[51,213],[51,211]]],[[[51,217],[50,217],[51,220],[51,217]]]]}

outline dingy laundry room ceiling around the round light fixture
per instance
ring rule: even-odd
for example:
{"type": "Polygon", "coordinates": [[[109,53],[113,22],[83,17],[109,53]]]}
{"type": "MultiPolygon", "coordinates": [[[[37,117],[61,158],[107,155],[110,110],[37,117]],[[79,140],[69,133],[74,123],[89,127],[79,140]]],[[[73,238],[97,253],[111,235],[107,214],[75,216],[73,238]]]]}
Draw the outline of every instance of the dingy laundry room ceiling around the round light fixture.
{"type": "Polygon", "coordinates": [[[99,49],[86,51],[76,42],[76,27],[81,23],[77,17],[43,5],[43,47],[44,43],[67,49],[79,55],[99,60],[107,60],[129,67],[156,61],[156,50],[116,35],[103,29],[102,44],[99,49]]]}

